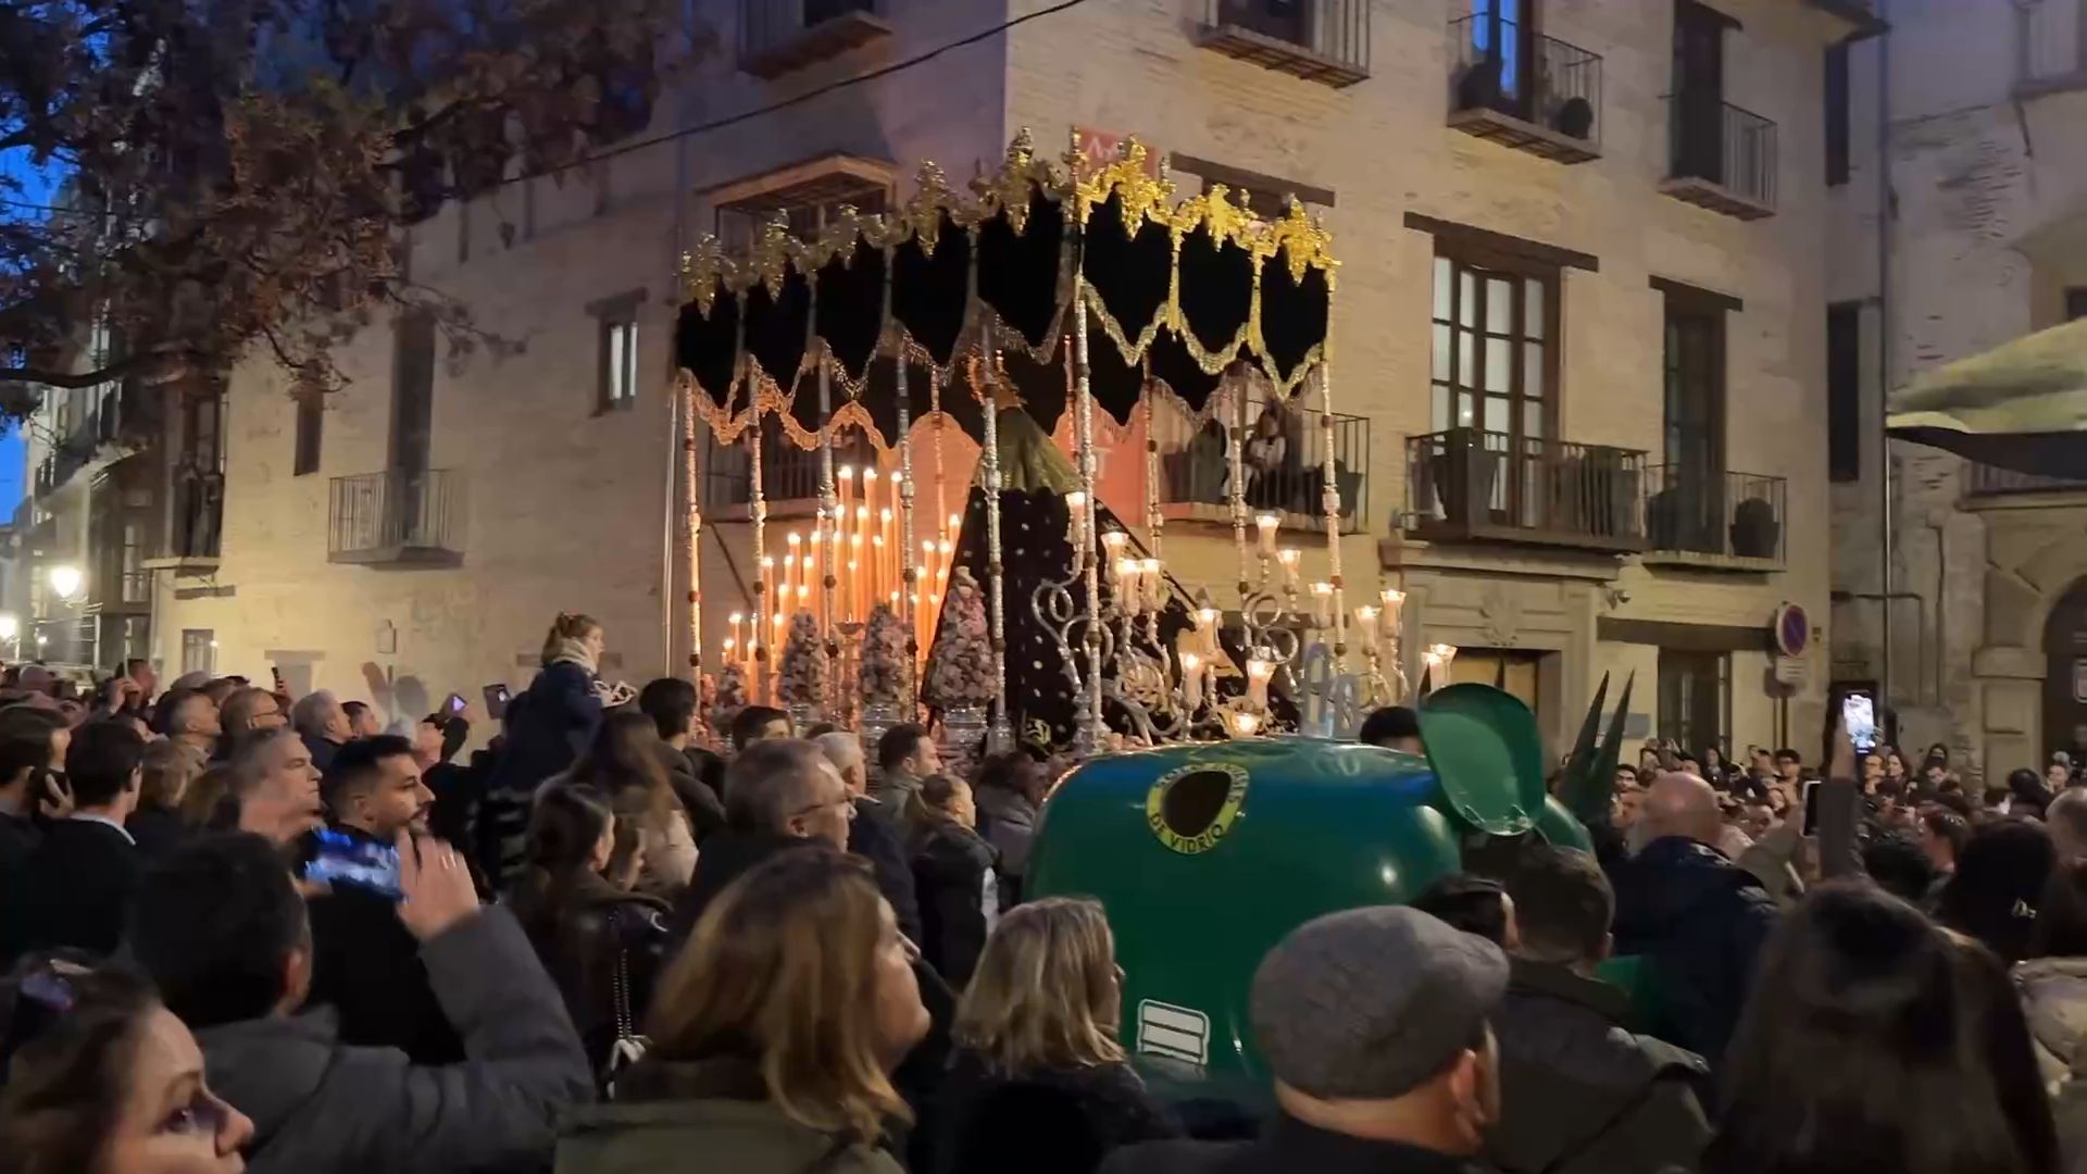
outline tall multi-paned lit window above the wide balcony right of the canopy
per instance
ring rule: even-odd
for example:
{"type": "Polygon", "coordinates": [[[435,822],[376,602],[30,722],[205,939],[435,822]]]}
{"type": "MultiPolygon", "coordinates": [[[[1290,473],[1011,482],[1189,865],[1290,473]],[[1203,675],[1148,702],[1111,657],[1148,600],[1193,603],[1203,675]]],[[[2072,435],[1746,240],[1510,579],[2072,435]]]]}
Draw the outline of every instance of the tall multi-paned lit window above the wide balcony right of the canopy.
{"type": "Polygon", "coordinates": [[[1463,255],[1434,263],[1436,432],[1478,428],[1519,441],[1557,432],[1559,272],[1532,259],[1463,255]]]}

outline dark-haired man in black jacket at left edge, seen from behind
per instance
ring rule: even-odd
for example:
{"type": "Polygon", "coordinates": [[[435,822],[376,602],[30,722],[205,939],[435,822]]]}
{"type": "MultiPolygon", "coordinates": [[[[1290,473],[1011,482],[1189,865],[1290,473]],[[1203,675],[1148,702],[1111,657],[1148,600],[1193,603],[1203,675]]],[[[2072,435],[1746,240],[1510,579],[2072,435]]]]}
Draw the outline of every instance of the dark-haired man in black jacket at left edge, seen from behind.
{"type": "Polygon", "coordinates": [[[138,892],[138,844],[123,821],[138,808],[144,737],[129,723],[90,721],[73,731],[65,777],[73,811],[44,829],[4,894],[0,955],[71,946],[115,953],[138,892]]]}

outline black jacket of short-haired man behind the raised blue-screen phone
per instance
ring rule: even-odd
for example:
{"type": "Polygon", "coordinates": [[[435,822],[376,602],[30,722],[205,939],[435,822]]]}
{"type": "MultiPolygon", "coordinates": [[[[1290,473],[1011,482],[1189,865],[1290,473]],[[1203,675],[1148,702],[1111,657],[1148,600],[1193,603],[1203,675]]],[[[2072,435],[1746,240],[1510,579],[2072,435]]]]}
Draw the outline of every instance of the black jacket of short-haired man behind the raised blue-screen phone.
{"type": "MultiPolygon", "coordinates": [[[[334,831],[371,840],[355,827],[334,831]]],[[[311,911],[311,1007],[332,1007],[340,1042],[390,1047],[413,1063],[455,1063],[463,1040],[428,982],[422,946],[390,896],[355,886],[307,902],[311,911]]]]}

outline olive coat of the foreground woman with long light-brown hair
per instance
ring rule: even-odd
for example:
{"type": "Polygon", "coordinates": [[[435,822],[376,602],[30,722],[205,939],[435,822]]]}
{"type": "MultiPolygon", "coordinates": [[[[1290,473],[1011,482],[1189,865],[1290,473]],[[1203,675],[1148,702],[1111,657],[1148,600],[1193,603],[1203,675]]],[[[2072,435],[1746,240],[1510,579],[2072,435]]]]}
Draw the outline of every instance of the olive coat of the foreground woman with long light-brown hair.
{"type": "Polygon", "coordinates": [[[557,1174],[902,1174],[883,1149],[791,1120],[751,1061],[641,1061],[616,1103],[578,1113],[557,1143],[557,1174]]]}

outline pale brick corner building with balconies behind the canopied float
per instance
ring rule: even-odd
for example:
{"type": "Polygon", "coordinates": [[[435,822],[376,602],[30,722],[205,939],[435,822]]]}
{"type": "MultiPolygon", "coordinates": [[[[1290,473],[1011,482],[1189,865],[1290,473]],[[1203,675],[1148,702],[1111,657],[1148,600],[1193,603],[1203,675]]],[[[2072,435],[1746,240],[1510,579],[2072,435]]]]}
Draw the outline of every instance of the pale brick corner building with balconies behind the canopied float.
{"type": "MultiPolygon", "coordinates": [[[[234,374],[223,558],[159,579],[171,671],[215,643],[217,671],[275,664],[405,717],[520,685],[559,610],[607,625],[609,675],[670,671],[676,257],[774,211],[891,207],[920,161],[960,182],[1031,127],[1041,150],[1137,136],[1181,194],[1223,182],[1325,219],[1350,602],[1407,589],[1411,643],[1505,677],[1553,744],[1603,673],[1636,673],[1634,731],[1816,733],[1822,652],[1778,671],[1770,625],[1828,610],[1818,111],[1860,4],[1098,0],[1004,31],[1037,4],[816,4],[812,29],[697,8],[726,52],[653,134],[716,130],[415,232],[415,276],[524,353],[451,357],[399,324],[323,405],[234,374]],[[877,67],[897,69],[824,90],[877,67]]],[[[737,460],[707,449],[701,474],[712,658],[747,606],[737,460]]],[[[1169,564],[1223,602],[1229,526],[1167,476],[1169,564]]],[[[1286,541],[1325,577],[1323,533],[1286,541]]]]}

